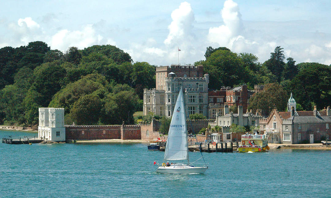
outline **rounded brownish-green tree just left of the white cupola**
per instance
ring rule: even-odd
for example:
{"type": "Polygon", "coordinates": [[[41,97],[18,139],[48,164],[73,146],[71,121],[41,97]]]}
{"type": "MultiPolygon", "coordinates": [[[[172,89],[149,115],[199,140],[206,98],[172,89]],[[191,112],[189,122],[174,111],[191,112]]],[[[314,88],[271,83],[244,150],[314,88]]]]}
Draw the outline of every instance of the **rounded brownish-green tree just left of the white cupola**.
{"type": "Polygon", "coordinates": [[[265,116],[269,115],[273,108],[282,111],[287,106],[287,93],[278,83],[269,83],[264,86],[264,89],[251,96],[248,109],[256,112],[261,109],[261,113],[265,116]]]}

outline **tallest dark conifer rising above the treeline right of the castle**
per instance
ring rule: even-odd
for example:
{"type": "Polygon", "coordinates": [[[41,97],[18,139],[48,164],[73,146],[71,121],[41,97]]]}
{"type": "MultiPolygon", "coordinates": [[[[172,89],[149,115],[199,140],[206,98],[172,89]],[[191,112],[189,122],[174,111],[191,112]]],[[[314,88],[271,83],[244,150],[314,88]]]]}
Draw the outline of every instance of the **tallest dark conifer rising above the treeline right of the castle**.
{"type": "Polygon", "coordinates": [[[280,82],[282,72],[284,69],[284,48],[277,46],[274,52],[270,53],[270,59],[266,60],[263,64],[274,74],[277,78],[277,82],[280,82]]]}

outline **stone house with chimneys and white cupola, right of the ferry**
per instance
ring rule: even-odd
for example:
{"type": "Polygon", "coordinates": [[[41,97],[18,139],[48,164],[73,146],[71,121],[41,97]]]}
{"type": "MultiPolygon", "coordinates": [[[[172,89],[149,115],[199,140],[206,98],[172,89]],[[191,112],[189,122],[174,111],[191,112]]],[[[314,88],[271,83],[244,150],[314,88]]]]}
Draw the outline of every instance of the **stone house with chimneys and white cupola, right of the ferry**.
{"type": "Polygon", "coordinates": [[[269,143],[299,144],[320,142],[329,138],[331,110],[296,111],[296,102],[291,94],[287,112],[273,109],[269,117],[260,119],[260,129],[267,132],[269,143]]]}

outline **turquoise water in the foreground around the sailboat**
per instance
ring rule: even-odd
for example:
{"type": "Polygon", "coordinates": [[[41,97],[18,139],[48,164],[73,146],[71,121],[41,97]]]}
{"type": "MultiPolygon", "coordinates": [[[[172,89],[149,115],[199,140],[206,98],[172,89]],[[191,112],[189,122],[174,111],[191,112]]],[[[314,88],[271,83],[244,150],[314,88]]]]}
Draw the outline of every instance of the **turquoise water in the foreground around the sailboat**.
{"type": "MultiPolygon", "coordinates": [[[[0,131],[12,134],[34,133],[0,131]]],[[[331,196],[331,151],[204,153],[209,169],[194,175],[156,174],[163,155],[141,143],[0,143],[0,197],[331,196]]]]}

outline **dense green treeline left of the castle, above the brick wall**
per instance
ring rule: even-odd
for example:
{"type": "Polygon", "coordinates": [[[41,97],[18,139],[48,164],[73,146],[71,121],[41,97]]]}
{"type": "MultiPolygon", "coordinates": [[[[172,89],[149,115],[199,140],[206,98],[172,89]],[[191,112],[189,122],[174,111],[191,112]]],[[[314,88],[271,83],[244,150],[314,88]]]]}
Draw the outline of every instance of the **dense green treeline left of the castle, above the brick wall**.
{"type": "Polygon", "coordinates": [[[0,49],[1,124],[35,125],[39,107],[65,108],[65,123],[133,123],[155,66],[111,45],[66,52],[41,41],[0,49]]]}

